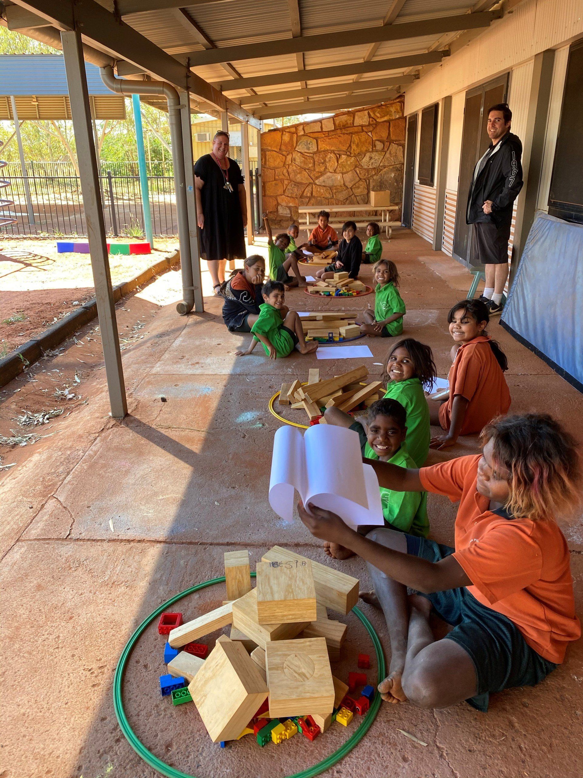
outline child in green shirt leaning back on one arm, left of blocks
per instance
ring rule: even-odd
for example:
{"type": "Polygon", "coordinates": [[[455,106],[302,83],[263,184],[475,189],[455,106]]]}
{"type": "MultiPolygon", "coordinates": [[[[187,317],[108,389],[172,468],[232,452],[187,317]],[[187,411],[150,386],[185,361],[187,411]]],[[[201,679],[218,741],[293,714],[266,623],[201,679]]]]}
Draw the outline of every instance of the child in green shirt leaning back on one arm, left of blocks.
{"type": "Polygon", "coordinates": [[[236,351],[236,356],[248,356],[257,342],[264,347],[265,356],[278,359],[298,349],[301,354],[311,354],[318,348],[317,343],[306,343],[302,320],[295,310],[285,305],[285,286],[281,281],[267,281],[261,290],[264,303],[259,307],[259,317],[251,332],[253,339],[246,351],[236,351]]]}

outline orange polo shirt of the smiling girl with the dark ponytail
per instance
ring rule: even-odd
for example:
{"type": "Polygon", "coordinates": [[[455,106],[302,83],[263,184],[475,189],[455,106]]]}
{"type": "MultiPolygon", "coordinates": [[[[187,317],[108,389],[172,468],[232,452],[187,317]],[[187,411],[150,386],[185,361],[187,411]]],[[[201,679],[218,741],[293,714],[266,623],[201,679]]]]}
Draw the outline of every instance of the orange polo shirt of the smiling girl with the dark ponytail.
{"type": "Polygon", "coordinates": [[[478,335],[459,346],[449,370],[449,400],[439,408],[439,423],[449,429],[453,398],[469,401],[460,435],[479,433],[495,416],[508,412],[510,391],[490,348],[490,335],[478,335]]]}

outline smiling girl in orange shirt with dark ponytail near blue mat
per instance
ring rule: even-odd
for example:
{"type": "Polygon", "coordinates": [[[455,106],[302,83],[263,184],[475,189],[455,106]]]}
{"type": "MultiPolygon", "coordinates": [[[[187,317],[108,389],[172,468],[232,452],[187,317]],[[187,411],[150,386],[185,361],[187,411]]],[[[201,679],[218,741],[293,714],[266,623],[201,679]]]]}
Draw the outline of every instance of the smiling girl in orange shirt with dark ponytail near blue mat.
{"type": "Polygon", "coordinates": [[[449,398],[429,400],[431,424],[446,435],[431,438],[431,448],[449,448],[459,435],[479,433],[494,417],[507,413],[510,391],[504,378],[508,362],[496,341],[486,333],[490,315],[481,300],[462,300],[448,314],[454,339],[449,370],[449,398]]]}

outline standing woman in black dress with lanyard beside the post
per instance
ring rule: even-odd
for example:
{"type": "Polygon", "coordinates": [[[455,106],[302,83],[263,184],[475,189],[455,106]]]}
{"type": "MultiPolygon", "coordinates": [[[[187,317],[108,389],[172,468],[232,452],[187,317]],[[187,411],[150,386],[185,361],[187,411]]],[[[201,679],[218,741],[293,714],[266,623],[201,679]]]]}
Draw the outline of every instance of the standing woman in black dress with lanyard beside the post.
{"type": "Polygon", "coordinates": [[[208,262],[215,294],[225,281],[226,261],[246,257],[245,185],[239,165],[228,154],[229,133],[218,131],[211,153],[194,165],[201,257],[208,262]]]}

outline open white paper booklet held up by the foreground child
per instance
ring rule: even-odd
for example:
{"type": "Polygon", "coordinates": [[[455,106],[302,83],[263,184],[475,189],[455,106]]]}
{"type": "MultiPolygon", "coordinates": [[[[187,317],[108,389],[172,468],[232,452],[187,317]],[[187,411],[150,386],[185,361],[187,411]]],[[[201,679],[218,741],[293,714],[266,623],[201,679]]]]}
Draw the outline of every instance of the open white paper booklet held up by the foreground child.
{"type": "Polygon", "coordinates": [[[291,521],[294,490],[302,502],[337,513],[349,527],[382,526],[379,480],[363,464],[354,429],[316,424],[305,430],[283,426],[274,436],[269,503],[291,521]]]}

